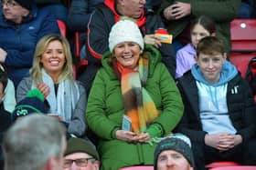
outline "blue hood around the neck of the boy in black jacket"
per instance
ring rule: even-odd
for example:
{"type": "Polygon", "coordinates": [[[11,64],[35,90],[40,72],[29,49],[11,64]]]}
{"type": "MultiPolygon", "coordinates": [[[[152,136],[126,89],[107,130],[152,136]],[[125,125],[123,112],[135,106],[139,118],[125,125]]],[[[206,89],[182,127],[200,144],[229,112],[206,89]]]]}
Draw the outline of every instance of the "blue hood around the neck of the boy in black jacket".
{"type": "Polygon", "coordinates": [[[228,61],[225,61],[224,64],[222,65],[219,82],[215,84],[208,83],[208,81],[204,78],[198,65],[192,66],[191,73],[198,82],[210,86],[219,86],[228,83],[232,78],[238,75],[238,70],[234,65],[231,65],[228,61]]]}

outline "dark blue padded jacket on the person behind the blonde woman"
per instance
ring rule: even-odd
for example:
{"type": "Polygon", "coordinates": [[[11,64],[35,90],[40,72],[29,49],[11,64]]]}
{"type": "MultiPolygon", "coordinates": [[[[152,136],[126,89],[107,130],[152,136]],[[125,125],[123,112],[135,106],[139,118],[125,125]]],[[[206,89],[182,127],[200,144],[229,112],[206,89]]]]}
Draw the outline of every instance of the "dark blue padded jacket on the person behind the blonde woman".
{"type": "Polygon", "coordinates": [[[47,10],[34,7],[20,25],[0,15],[0,47],[7,52],[5,65],[15,86],[32,65],[37,41],[44,35],[59,34],[56,18],[47,10]]]}

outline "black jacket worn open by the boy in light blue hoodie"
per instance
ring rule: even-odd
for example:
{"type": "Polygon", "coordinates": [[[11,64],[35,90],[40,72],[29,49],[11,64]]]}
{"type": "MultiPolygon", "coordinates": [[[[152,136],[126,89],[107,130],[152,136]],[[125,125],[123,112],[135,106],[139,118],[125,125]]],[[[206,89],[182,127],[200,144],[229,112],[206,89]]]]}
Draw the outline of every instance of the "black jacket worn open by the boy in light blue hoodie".
{"type": "MultiPolygon", "coordinates": [[[[178,87],[185,105],[185,113],[176,130],[189,136],[192,142],[204,144],[207,132],[202,130],[199,116],[197,84],[190,71],[178,79],[178,87]]],[[[237,134],[242,136],[243,142],[255,137],[256,107],[250,86],[241,78],[240,74],[229,81],[227,105],[230,121],[236,128],[237,134]],[[234,87],[237,88],[238,93],[232,93],[234,87]]]]}

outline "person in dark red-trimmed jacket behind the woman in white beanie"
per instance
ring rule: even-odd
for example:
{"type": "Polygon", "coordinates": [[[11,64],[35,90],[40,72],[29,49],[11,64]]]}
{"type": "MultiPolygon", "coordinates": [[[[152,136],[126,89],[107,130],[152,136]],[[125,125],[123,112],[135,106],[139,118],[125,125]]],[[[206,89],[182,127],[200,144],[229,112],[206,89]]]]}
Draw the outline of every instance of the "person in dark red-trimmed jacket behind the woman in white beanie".
{"type": "Polygon", "coordinates": [[[161,17],[154,12],[145,13],[145,0],[105,0],[103,5],[96,7],[91,15],[88,25],[88,61],[86,71],[80,75],[79,80],[90,91],[91,83],[101,67],[101,55],[109,50],[108,37],[112,25],[125,15],[136,20],[144,35],[146,44],[155,45],[162,55],[162,61],[166,65],[171,75],[175,76],[176,56],[171,44],[160,43],[160,39],[155,36],[155,31],[164,28],[161,17]]]}

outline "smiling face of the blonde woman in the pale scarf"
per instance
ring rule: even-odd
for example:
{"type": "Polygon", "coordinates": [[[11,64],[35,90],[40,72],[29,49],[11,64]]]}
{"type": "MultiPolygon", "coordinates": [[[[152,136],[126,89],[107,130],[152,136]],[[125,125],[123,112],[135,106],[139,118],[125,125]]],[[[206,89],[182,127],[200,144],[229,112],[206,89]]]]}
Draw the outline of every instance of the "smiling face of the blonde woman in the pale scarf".
{"type": "Polygon", "coordinates": [[[58,40],[50,42],[40,62],[48,75],[58,77],[66,63],[63,45],[58,40]]]}

